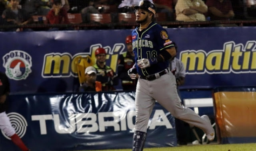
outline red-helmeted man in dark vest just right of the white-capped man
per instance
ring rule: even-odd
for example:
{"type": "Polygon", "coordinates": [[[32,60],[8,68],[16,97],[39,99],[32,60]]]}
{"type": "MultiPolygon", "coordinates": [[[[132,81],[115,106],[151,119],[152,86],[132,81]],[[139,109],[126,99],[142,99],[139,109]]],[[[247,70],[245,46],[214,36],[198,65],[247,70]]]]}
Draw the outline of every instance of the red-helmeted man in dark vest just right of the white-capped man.
{"type": "Polygon", "coordinates": [[[102,83],[103,91],[116,90],[115,85],[118,84],[118,76],[114,73],[114,70],[106,63],[106,51],[104,48],[98,48],[95,51],[96,64],[93,66],[97,71],[97,81],[102,83]]]}

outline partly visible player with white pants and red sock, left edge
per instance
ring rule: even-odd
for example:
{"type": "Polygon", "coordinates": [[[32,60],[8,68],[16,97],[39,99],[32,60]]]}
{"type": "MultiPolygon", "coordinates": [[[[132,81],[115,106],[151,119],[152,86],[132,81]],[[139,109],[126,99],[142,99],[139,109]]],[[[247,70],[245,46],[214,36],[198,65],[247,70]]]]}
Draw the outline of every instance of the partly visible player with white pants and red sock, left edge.
{"type": "Polygon", "coordinates": [[[22,151],[29,151],[28,147],[24,145],[20,137],[16,134],[12,127],[10,119],[6,115],[7,103],[6,100],[10,92],[10,84],[7,76],[0,72],[0,129],[11,138],[12,142],[20,147],[22,151]]]}

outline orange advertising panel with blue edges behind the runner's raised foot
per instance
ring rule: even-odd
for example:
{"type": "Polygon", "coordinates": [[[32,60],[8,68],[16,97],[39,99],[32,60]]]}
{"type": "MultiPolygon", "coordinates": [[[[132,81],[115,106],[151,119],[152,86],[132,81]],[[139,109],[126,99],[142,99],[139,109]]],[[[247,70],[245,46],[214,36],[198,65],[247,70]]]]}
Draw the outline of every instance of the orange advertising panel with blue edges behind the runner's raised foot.
{"type": "Polygon", "coordinates": [[[214,109],[221,143],[256,143],[254,87],[216,88],[214,109]]]}

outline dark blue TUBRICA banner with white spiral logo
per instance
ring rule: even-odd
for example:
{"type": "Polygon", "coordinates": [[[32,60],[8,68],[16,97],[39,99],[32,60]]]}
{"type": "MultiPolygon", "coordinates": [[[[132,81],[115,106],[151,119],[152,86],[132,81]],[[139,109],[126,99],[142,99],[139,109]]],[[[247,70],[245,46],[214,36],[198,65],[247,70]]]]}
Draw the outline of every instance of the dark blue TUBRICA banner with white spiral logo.
{"type": "MultiPolygon", "coordinates": [[[[131,149],[135,92],[10,95],[7,115],[32,151],[131,149]]],[[[156,102],[145,147],[176,146],[174,117],[156,102]]],[[[0,133],[0,151],[19,151],[0,133]]]]}

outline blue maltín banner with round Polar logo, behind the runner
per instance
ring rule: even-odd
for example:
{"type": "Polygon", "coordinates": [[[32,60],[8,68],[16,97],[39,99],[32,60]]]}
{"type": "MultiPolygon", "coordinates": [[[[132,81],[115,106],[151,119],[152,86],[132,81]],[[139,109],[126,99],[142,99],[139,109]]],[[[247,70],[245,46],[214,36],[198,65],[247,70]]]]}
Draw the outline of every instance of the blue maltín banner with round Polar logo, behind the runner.
{"type": "MultiPolygon", "coordinates": [[[[0,71],[10,78],[11,91],[76,92],[75,59],[107,50],[106,64],[117,70],[118,55],[126,51],[131,29],[86,31],[2,32],[0,71]]],[[[167,29],[178,45],[186,68],[180,88],[251,86],[256,83],[256,27],[167,29]]],[[[117,87],[121,90],[121,87],[117,87]]]]}

